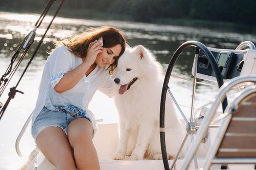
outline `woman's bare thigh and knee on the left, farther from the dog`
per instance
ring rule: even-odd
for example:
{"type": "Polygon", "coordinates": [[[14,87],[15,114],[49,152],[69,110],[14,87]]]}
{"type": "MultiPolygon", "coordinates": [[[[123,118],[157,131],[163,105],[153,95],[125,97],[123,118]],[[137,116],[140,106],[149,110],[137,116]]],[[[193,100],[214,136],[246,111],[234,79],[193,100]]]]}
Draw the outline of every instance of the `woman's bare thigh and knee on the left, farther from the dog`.
{"type": "Polygon", "coordinates": [[[43,155],[57,170],[77,170],[65,132],[59,127],[46,127],[37,137],[37,145],[43,155]]]}

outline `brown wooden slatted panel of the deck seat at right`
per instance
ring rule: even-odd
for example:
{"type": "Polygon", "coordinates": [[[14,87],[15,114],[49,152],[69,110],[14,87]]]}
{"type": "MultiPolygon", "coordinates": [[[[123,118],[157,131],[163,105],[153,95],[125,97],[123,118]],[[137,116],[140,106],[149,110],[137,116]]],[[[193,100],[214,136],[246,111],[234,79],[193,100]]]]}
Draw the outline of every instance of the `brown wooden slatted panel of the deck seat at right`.
{"type": "Polygon", "coordinates": [[[256,157],[256,93],[238,104],[216,157],[256,157]]]}

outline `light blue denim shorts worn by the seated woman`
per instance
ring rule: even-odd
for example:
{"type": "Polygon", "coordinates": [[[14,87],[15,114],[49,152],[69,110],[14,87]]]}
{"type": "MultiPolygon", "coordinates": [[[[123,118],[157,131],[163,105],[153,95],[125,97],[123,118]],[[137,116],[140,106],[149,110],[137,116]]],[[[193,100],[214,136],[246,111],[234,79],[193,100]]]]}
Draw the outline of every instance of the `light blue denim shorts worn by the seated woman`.
{"type": "MultiPolygon", "coordinates": [[[[32,136],[36,140],[38,134],[44,128],[49,126],[59,127],[67,135],[68,124],[72,120],[77,118],[85,118],[85,119],[88,119],[90,122],[92,122],[91,119],[86,116],[86,112],[72,115],[68,112],[51,111],[44,106],[32,125],[32,136]]],[[[95,127],[93,124],[92,126],[95,127]]],[[[94,129],[93,133],[95,133],[96,130],[95,128],[93,129],[94,129]]]]}

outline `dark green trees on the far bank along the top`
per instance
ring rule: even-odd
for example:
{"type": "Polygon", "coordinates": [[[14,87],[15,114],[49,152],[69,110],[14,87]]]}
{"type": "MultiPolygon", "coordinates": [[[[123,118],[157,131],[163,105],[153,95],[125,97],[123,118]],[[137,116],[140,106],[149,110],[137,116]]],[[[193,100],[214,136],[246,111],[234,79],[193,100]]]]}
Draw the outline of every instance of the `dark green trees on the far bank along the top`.
{"type": "MultiPolygon", "coordinates": [[[[47,2],[0,0],[0,10],[40,13],[47,2]]],[[[113,19],[151,23],[159,19],[204,20],[255,26],[255,7],[256,0],[65,0],[60,15],[98,19],[115,16],[113,19]]]]}

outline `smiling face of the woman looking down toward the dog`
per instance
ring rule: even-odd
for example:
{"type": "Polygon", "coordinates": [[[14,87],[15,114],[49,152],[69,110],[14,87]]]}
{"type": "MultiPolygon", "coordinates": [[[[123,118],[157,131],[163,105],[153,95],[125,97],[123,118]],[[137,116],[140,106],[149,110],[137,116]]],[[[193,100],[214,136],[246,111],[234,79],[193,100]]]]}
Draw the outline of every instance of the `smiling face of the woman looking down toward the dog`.
{"type": "Polygon", "coordinates": [[[96,64],[99,67],[105,67],[113,64],[115,59],[118,58],[122,47],[120,44],[111,47],[111,48],[103,48],[102,52],[98,53],[96,57],[96,64]]]}

